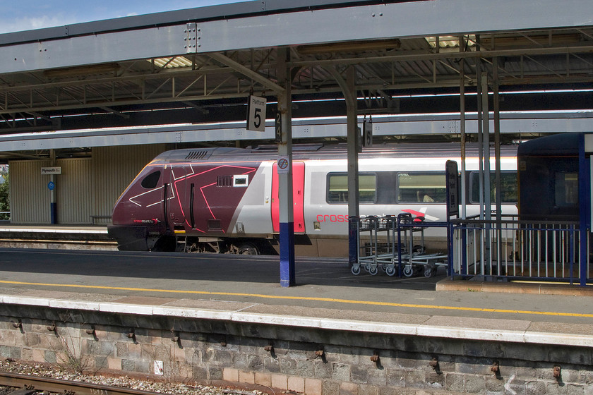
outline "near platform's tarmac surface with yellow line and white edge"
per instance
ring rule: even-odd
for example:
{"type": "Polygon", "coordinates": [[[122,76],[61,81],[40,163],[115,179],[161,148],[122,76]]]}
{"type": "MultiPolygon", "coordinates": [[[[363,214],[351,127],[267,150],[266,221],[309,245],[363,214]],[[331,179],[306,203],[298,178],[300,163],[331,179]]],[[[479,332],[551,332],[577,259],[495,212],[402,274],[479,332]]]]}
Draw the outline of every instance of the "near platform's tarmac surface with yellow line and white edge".
{"type": "Polygon", "coordinates": [[[354,276],[297,258],[0,249],[0,301],[328,329],[593,347],[593,287],[354,276]],[[493,291],[493,292],[491,292],[493,291]]]}

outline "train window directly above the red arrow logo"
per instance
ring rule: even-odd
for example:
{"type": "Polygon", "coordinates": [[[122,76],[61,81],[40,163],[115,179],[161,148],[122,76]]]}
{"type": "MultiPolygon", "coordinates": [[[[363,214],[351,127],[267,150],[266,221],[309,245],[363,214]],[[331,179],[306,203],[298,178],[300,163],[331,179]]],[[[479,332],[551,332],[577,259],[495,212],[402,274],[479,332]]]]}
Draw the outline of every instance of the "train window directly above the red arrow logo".
{"type": "Polygon", "coordinates": [[[397,202],[443,203],[446,196],[444,173],[397,174],[397,202]]]}

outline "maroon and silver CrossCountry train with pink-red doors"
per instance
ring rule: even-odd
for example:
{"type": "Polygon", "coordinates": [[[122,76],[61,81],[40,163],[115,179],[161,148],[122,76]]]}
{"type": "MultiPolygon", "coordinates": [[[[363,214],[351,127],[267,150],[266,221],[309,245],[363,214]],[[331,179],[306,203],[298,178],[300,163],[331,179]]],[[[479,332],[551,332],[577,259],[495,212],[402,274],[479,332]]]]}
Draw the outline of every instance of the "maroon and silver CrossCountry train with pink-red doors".
{"type": "MultiPolygon", "coordinates": [[[[517,212],[516,152],[516,146],[503,146],[501,154],[505,214],[517,212]]],[[[119,250],[277,254],[277,159],[275,146],[163,152],[116,201],[109,236],[119,250]]],[[[359,153],[361,217],[408,212],[445,221],[450,159],[460,162],[458,142],[365,148],[359,153]]],[[[479,214],[476,145],[467,145],[466,169],[467,215],[479,214]]],[[[347,256],[345,145],[294,145],[292,174],[296,255],[347,256]]],[[[446,248],[443,229],[429,229],[424,242],[446,248]]]]}

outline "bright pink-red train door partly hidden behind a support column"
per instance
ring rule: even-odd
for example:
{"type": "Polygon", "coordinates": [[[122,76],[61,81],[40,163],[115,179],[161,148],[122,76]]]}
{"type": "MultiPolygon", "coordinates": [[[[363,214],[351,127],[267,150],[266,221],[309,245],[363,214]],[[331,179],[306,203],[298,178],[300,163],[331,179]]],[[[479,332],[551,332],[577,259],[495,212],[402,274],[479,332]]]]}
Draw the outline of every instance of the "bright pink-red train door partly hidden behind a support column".
{"type": "MultiPolygon", "coordinates": [[[[305,232],[304,215],[305,163],[292,162],[292,205],[294,233],[305,232]]],[[[278,166],[272,166],[272,228],[280,231],[280,204],[278,202],[278,166]]]]}

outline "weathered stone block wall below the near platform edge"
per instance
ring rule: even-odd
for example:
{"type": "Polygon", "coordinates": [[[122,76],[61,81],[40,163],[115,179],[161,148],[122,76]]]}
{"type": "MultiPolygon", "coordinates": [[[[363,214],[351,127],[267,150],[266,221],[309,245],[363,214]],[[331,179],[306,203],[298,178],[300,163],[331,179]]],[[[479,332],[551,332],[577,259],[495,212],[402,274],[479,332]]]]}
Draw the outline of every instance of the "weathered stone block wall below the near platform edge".
{"type": "Polygon", "coordinates": [[[307,395],[593,394],[591,348],[11,305],[1,305],[0,313],[0,357],[64,367],[80,363],[90,372],[150,376],[159,360],[162,377],[171,381],[242,383],[307,395]],[[21,327],[13,324],[18,319],[21,327]],[[56,331],[48,330],[52,322],[56,331]],[[323,356],[316,356],[319,350],[323,356]],[[494,360],[500,375],[491,372],[494,360]],[[559,380],[554,365],[561,366],[559,380]]]}

